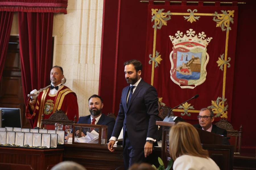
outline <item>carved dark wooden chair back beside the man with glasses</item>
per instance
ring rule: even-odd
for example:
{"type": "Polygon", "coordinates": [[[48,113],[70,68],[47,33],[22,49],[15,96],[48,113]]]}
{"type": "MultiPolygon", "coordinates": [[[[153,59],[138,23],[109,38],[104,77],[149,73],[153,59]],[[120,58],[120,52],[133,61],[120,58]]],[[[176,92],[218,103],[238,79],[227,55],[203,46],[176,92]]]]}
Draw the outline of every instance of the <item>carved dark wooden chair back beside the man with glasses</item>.
{"type": "Polygon", "coordinates": [[[227,119],[221,119],[218,123],[215,124],[219,128],[225,129],[227,131],[227,137],[230,137],[230,145],[235,146],[235,152],[240,153],[241,150],[241,141],[242,141],[242,125],[240,126],[239,131],[234,130],[233,126],[228,122],[227,119]]]}

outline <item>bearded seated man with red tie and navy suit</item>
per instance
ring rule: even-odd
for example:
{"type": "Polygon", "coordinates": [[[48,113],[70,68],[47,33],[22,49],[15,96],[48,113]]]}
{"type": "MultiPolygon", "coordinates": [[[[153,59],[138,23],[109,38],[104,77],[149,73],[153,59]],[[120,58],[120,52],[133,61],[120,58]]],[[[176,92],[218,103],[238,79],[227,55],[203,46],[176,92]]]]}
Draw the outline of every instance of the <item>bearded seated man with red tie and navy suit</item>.
{"type": "MultiPolygon", "coordinates": [[[[92,95],[89,100],[89,111],[90,115],[88,116],[81,116],[77,123],[81,124],[98,124],[98,125],[107,125],[108,126],[108,140],[111,137],[113,128],[115,126],[115,119],[109,116],[105,116],[102,114],[101,110],[103,108],[103,99],[94,94],[92,95]]],[[[77,135],[79,134],[79,130],[75,132],[77,135]]],[[[70,133],[69,137],[72,137],[73,134],[70,133]]],[[[81,132],[81,136],[85,136],[84,132],[81,132]]]]}

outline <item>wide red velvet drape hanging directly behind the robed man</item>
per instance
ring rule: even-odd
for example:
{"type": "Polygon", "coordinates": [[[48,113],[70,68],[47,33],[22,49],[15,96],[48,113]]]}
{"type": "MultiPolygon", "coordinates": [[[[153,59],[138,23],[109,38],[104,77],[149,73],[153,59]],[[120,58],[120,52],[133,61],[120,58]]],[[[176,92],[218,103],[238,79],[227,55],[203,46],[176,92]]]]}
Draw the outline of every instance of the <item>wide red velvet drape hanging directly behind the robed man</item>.
{"type": "Polygon", "coordinates": [[[27,101],[31,90],[50,84],[53,13],[19,12],[18,22],[23,93],[27,101]]]}

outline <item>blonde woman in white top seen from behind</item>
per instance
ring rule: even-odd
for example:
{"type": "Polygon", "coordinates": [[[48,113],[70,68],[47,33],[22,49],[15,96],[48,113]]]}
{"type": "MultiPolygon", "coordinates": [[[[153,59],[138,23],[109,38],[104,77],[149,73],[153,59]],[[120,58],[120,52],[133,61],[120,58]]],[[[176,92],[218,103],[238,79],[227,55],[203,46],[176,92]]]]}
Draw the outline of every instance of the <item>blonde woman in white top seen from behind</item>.
{"type": "Polygon", "coordinates": [[[174,170],[220,170],[202,148],[198,132],[191,124],[179,122],[173,126],[169,142],[174,170]]]}

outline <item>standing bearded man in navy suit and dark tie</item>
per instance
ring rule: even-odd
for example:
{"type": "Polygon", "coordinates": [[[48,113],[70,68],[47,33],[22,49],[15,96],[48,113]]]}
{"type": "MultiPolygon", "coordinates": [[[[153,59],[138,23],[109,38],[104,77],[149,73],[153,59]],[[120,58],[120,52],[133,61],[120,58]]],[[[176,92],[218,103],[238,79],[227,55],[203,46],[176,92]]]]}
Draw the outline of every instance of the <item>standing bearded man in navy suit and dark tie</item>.
{"type": "Polygon", "coordinates": [[[141,79],[141,62],[133,59],[124,65],[129,86],[123,88],[108,149],[114,151],[113,145],[123,128],[123,158],[125,169],[128,169],[133,163],[143,162],[152,153],[157,137],[156,120],[159,117],[157,92],[141,79]]]}

